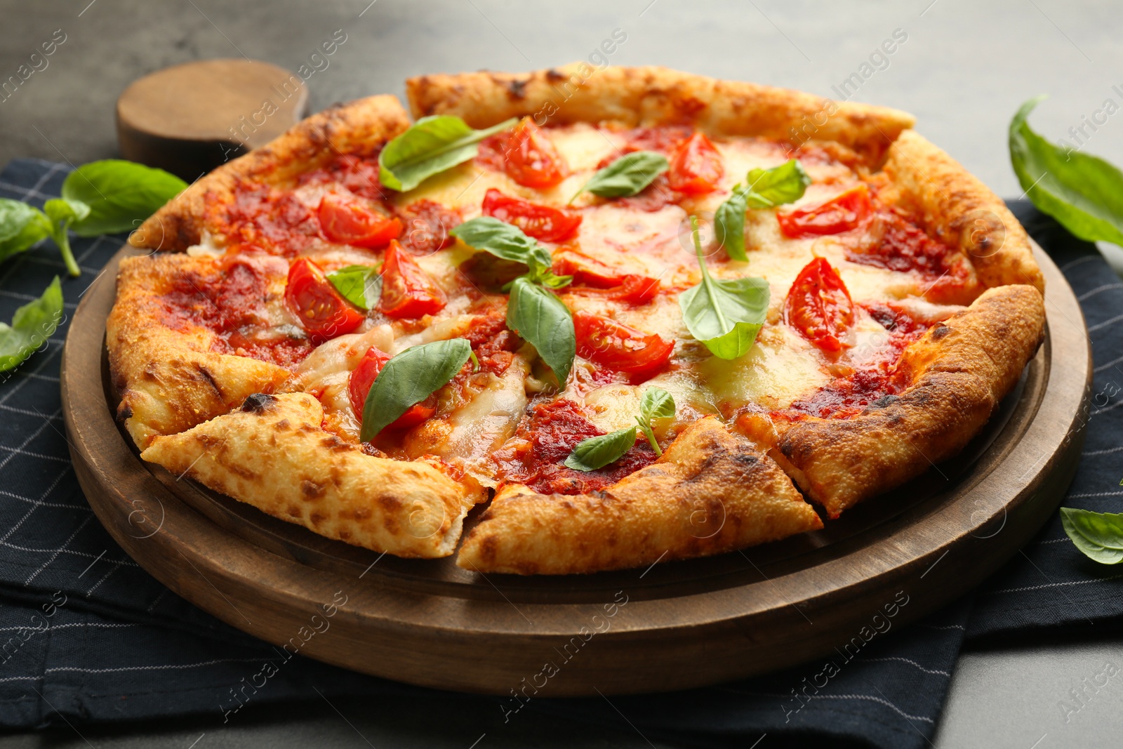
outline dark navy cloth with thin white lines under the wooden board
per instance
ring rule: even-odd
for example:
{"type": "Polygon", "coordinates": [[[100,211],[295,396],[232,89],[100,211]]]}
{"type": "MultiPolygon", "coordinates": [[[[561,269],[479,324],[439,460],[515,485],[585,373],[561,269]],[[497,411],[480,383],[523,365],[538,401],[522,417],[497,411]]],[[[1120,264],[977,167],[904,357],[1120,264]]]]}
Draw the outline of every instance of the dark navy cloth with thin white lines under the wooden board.
{"type": "MultiPolygon", "coordinates": [[[[58,194],[69,167],[19,159],[0,172],[0,197],[35,205],[58,194]]],[[[1110,510],[1123,495],[1110,475],[1123,450],[1123,286],[1096,249],[1028,203],[1019,217],[1080,295],[1096,356],[1095,419],[1066,503],[1110,510]],[[1120,383],[1120,386],[1115,386],[1120,383]]],[[[124,237],[74,239],[82,276],[65,276],[49,240],[0,265],[0,319],[63,277],[66,311],[124,237]]],[[[1123,595],[1111,567],[1088,561],[1051,522],[973,596],[907,628],[883,624],[837,656],[719,686],[647,695],[522,702],[453,695],[291,659],[186,603],[110,539],[77,485],[58,396],[63,323],[46,346],[0,377],[0,725],[11,728],[185,714],[229,721],[243,704],[323,695],[403,697],[423,725],[435,701],[478,703],[490,722],[529,712],[630,722],[645,736],[702,746],[752,746],[769,734],[800,742],[923,747],[932,736],[965,636],[1046,625],[1088,627],[1116,616],[1123,595]],[[7,638],[7,642],[4,639],[7,638]],[[266,666],[268,664],[268,666],[266,666]],[[264,686],[258,675],[268,673],[264,686]],[[489,712],[490,711],[490,712],[489,712]],[[524,713],[523,711],[527,711],[524,713]]],[[[886,602],[892,603],[892,602],[886,602]]],[[[897,601],[906,608],[907,601],[897,601]]],[[[859,633],[856,632],[856,636],[859,633]]],[[[658,654],[652,654],[658,657],[658,654]]]]}

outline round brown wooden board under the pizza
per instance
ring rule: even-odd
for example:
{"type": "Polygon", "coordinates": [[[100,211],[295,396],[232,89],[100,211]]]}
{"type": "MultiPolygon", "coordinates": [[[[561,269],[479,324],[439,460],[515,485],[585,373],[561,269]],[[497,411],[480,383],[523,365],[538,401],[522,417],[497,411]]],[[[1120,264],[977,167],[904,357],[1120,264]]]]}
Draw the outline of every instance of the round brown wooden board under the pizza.
{"type": "Polygon", "coordinates": [[[1084,318],[1035,247],[1046,342],[959,457],[823,531],[743,552],[586,576],[484,577],[450,558],[398,559],[320,538],[143,463],[115,423],[104,356],[117,263],[136,252],[118,253],[85,293],[63,353],[71,454],[98,518],[157,579],[234,627],[413,684],[657,692],[833,652],[886,620],[896,628],[942,606],[1015,554],[1056,511],[1084,439],[1084,318]],[[325,621],[327,631],[310,634],[325,621]]]}

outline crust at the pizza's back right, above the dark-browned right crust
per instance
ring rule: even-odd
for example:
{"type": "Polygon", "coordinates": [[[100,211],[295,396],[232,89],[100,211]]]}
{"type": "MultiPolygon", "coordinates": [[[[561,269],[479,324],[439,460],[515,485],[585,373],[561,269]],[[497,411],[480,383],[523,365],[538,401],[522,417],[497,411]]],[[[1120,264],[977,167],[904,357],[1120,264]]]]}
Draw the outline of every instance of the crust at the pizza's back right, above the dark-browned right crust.
{"type": "Polygon", "coordinates": [[[971,258],[985,286],[1029,284],[1044,293],[1025,229],[959,162],[905,130],[889,148],[885,172],[897,202],[915,211],[929,234],[971,258]]]}

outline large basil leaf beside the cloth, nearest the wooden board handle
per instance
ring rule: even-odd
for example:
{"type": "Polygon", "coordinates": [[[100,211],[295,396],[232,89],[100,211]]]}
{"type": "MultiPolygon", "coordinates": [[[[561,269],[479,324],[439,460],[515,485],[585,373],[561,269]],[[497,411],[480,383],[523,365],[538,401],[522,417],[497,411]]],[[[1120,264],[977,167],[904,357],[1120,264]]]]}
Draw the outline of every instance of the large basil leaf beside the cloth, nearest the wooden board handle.
{"type": "Polygon", "coordinates": [[[93,237],[135,229],[186,189],[186,182],[164,170],[110,158],[67,174],[62,192],[72,204],[90,207],[70,228],[80,237],[93,237]]]}

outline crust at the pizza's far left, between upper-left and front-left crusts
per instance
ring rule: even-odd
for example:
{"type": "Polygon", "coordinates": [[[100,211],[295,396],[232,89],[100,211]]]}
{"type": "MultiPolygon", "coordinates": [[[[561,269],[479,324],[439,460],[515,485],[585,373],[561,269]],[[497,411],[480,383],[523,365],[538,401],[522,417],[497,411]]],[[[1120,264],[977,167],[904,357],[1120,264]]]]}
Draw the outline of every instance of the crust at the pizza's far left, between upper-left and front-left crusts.
{"type": "Polygon", "coordinates": [[[207,257],[126,257],[117,276],[117,302],[106,320],[109,368],[120,404],[118,419],[141,450],[158,435],[190,429],[268,393],[289,378],[284,367],[210,350],[214,334],[164,322],[159,296],[168,281],[213,263],[207,257]]]}

